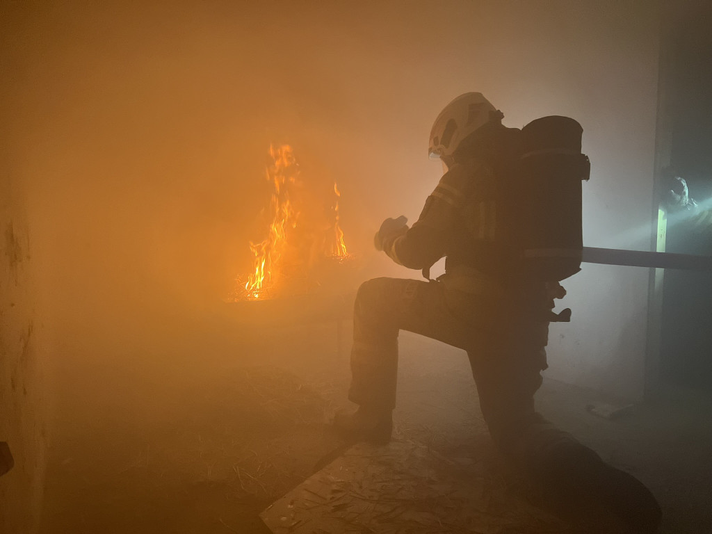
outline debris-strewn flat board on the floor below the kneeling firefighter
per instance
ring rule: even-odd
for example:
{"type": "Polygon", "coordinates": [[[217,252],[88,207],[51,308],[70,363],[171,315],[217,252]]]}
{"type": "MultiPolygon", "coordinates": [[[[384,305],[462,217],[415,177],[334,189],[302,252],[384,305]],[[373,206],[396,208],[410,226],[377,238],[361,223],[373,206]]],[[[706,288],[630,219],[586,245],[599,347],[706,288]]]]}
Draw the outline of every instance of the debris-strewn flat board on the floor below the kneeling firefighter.
{"type": "Polygon", "coordinates": [[[570,533],[486,466],[414,441],[359,444],[269,506],[275,534],[570,533]]]}

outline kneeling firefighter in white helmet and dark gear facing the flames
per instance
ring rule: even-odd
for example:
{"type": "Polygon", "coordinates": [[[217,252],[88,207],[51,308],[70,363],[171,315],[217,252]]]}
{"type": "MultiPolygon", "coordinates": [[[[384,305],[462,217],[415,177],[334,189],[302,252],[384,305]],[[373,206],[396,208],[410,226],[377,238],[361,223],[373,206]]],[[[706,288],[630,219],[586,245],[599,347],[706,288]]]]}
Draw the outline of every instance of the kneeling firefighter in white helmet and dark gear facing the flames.
{"type": "Polygon", "coordinates": [[[481,199],[511,171],[520,132],[502,118],[481,93],[459,96],[437,117],[429,155],[445,174],[415,224],[386,219],[375,246],[402,266],[424,269],[426,278],[445,257],[446,273],[437,281],[376,278],[360,286],[349,390],[358,409],[337,414],[336,429],[354,441],[389,441],[399,330],[426,335],[466,350],[491,437],[515,466],[562,498],[597,498],[633,531],[652,533],[660,510],[645,486],[535,412],[553,300],[563,290],[493,274],[497,260],[483,245],[493,210],[481,199]]]}

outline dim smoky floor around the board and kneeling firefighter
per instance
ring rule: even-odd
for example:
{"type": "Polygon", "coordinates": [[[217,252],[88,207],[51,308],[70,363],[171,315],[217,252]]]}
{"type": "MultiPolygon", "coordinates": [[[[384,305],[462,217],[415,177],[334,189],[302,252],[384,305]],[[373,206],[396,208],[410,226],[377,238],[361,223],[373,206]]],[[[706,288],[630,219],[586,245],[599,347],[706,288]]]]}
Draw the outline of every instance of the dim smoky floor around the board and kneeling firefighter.
{"type": "MultiPolygon", "coordinates": [[[[41,533],[268,532],[258,513],[341,444],[325,422],[348,405],[346,351],[331,325],[204,341],[57,367],[41,533]]],[[[403,333],[401,354],[396,436],[486,449],[464,353],[403,333]]],[[[606,400],[545,380],[538,408],[644,481],[663,533],[712,532],[711,397],[669,387],[614,421],[587,412],[606,400]]]]}

